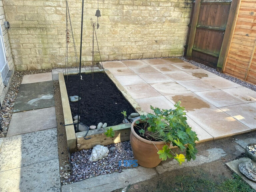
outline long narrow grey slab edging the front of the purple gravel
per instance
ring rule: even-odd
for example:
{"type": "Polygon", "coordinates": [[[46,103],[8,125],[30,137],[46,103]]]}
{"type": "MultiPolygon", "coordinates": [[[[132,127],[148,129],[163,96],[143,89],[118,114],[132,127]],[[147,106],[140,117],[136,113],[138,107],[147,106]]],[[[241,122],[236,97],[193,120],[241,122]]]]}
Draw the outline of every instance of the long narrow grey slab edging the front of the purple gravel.
{"type": "Polygon", "coordinates": [[[83,181],[72,183],[69,185],[63,185],[61,187],[62,192],[110,192],[116,189],[124,188],[134,183],[145,181],[157,173],[155,169],[144,168],[139,166],[138,168],[126,169],[122,173],[112,173],[107,175],[100,175],[92,177],[83,181]]]}

